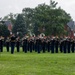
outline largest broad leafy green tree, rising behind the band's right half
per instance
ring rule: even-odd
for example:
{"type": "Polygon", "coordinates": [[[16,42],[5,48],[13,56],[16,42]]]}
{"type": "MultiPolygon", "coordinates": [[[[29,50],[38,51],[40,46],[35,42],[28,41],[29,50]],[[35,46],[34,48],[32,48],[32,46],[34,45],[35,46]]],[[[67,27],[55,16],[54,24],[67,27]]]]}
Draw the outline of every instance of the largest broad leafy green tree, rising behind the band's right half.
{"type": "Polygon", "coordinates": [[[46,35],[65,34],[64,27],[71,20],[71,17],[60,7],[56,8],[56,5],[57,2],[51,0],[50,5],[40,4],[34,9],[34,33],[36,31],[38,33],[38,29],[41,33],[44,28],[46,35]]]}

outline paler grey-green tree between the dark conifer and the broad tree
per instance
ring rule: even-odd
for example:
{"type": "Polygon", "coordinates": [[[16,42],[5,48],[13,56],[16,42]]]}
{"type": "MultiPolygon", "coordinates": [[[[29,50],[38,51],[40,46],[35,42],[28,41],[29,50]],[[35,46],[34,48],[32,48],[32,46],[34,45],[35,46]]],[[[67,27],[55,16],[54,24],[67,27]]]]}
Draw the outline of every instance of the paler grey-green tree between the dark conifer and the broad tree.
{"type": "Polygon", "coordinates": [[[22,15],[24,17],[25,20],[25,25],[27,28],[27,32],[28,33],[32,33],[33,31],[33,15],[34,15],[34,9],[32,8],[24,8],[22,10],[22,15]]]}

